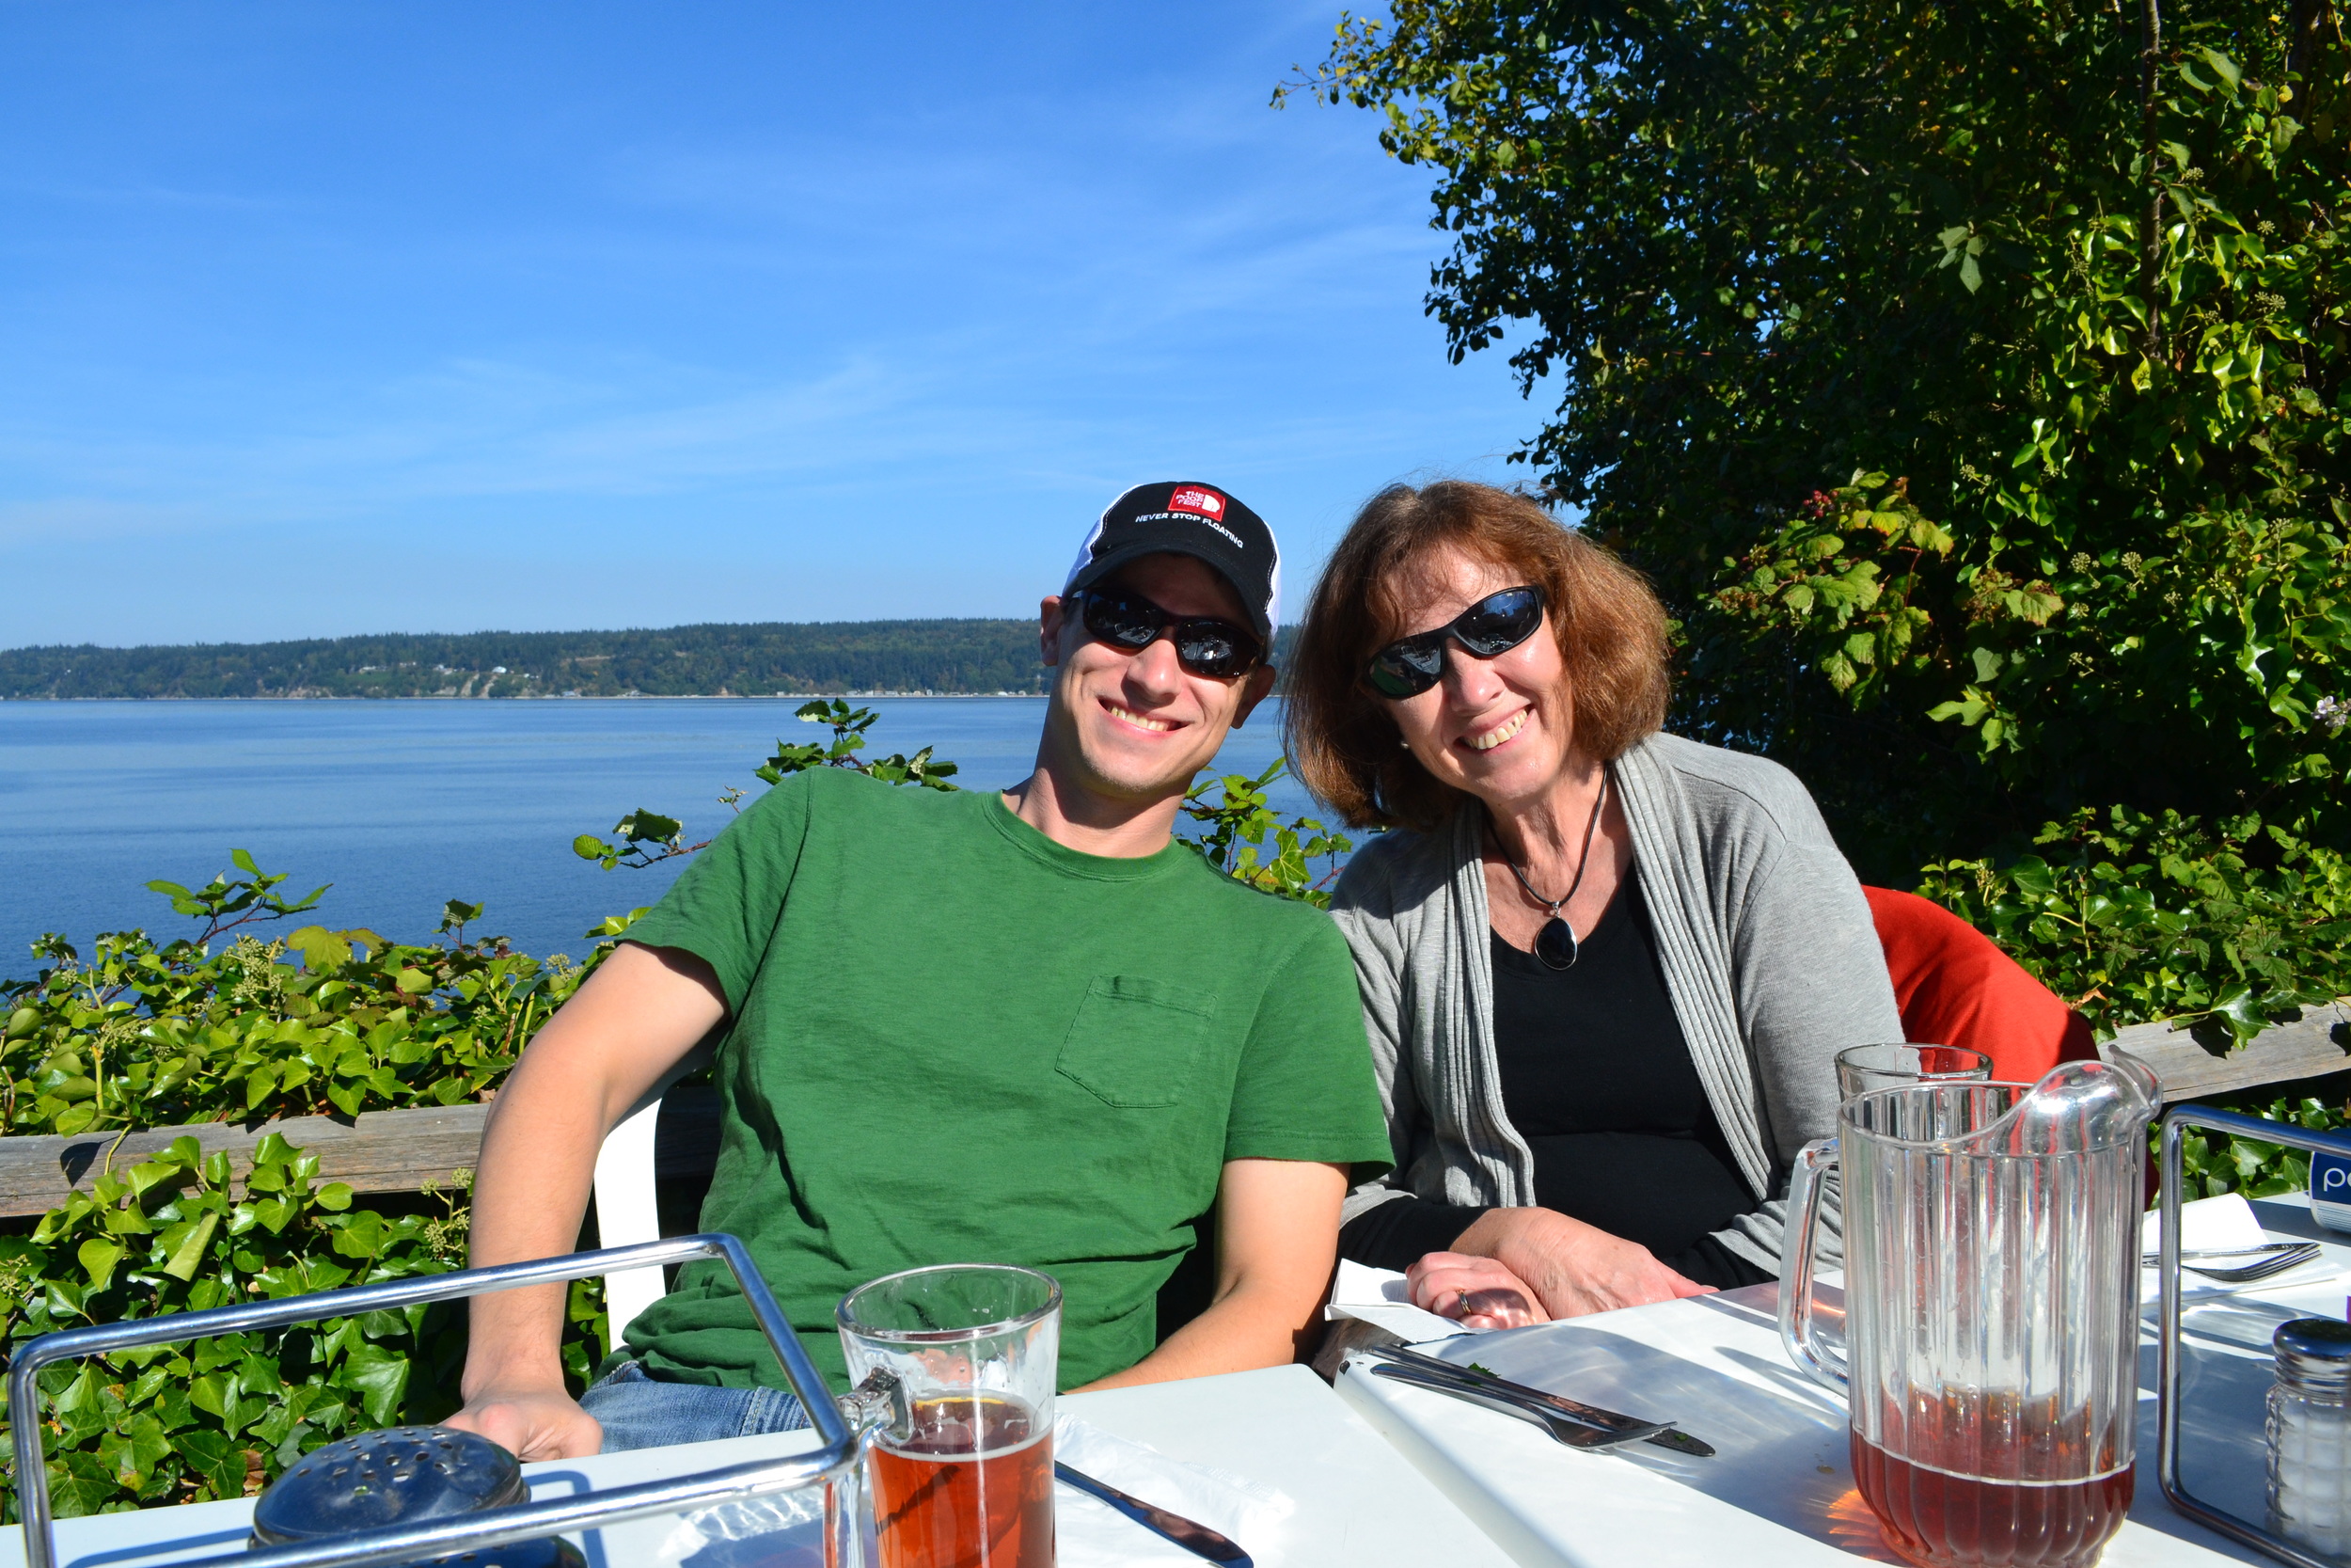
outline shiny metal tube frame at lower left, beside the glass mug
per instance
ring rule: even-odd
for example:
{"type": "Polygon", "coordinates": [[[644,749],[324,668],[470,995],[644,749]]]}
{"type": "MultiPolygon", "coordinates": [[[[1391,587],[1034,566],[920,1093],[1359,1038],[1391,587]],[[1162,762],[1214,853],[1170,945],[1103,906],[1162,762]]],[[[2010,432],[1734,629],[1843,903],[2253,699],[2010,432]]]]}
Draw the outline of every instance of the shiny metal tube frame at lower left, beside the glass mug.
{"type": "Polygon", "coordinates": [[[769,1347],[783,1363],[783,1378],[809,1410],[809,1425],[823,1443],[809,1453],[792,1453],[748,1465],[726,1465],[696,1476],[670,1481],[639,1481],[604,1493],[576,1497],[550,1497],[548,1502],[520,1502],[515,1507],[442,1519],[435,1523],[390,1526],[346,1535],[329,1542],[268,1547],[254,1552],[228,1552],[190,1561],[186,1568],[400,1568],[454,1552],[505,1547],[567,1530],[651,1519],[658,1514],[682,1514],[689,1509],[741,1502],[745,1497],[769,1497],[773,1493],[799,1490],[804,1486],[825,1488],[828,1559],[839,1563],[858,1561],[856,1542],[856,1462],[858,1439],[825,1389],[823,1375],[809,1361],[783,1309],[769,1293],[750,1253],[734,1237],[672,1237],[642,1246],[621,1246],[597,1253],[567,1253],[536,1262],[505,1262],[487,1269],[463,1269],[456,1274],[426,1274],[421,1279],[397,1279],[381,1286],[357,1286],[350,1291],[322,1291],[317,1295],[294,1295],[287,1300],[252,1302],[242,1307],[214,1307],[212,1312],[176,1312],[155,1319],[132,1319],[127,1324],[99,1324],[92,1328],[66,1328],[45,1333],[26,1342],[9,1366],[7,1403],[12,1439],[16,1448],[16,1516],[24,1521],[26,1568],[56,1568],[56,1526],[49,1519],[49,1467],[40,1446],[40,1385],[45,1366],[75,1361],[80,1356],[132,1349],[139,1345],[169,1345],[176,1340],[200,1340],[219,1333],[245,1333],[249,1328],[280,1328],[284,1324],[308,1324],[331,1316],[357,1316],[416,1302],[449,1300],[456,1295],[484,1295],[489,1291],[515,1291],[520,1286],[548,1286],[588,1274],[616,1269],[661,1267],[670,1262],[694,1262],[701,1258],[722,1260],[736,1276],[752,1319],[766,1333],[769,1347]],[[846,1483],[846,1486],[844,1486],[846,1483]]]}

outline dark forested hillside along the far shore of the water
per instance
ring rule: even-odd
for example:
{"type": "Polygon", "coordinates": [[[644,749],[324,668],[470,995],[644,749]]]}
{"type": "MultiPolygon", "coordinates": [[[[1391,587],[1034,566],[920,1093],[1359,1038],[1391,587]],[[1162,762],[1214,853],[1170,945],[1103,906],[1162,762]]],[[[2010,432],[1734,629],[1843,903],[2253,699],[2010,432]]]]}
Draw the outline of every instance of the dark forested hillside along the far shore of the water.
{"type": "Polygon", "coordinates": [[[1041,691],[1034,621],[832,621],[0,651],[0,698],[1041,691]]]}

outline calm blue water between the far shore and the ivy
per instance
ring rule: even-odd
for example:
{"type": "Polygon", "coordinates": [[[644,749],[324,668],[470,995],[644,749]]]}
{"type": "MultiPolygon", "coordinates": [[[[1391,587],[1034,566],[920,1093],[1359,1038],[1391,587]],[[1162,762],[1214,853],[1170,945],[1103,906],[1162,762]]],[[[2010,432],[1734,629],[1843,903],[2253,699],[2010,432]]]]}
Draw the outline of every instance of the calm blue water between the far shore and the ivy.
{"type": "MultiPolygon", "coordinates": [[[[868,755],[924,745],[962,764],[966,788],[1027,776],[1041,698],[865,698],[879,712],[868,755]]],[[[764,785],[752,769],[778,736],[828,731],[790,701],[557,703],[0,703],[0,978],[35,964],[26,945],[63,931],[186,922],[146,889],[186,886],[249,849],[287,891],[334,886],[329,926],[423,940],[449,898],[487,905],[480,929],[522,952],[588,950],[607,914],[654,903],[684,860],[600,870],[571,853],[637,806],[726,823],[719,790],[764,785]]],[[[1255,773],[1279,752],[1272,708],[1218,755],[1255,773]]],[[[1305,811],[1295,785],[1274,799],[1305,811]]],[[[266,929],[263,929],[266,933],[266,929]]]]}

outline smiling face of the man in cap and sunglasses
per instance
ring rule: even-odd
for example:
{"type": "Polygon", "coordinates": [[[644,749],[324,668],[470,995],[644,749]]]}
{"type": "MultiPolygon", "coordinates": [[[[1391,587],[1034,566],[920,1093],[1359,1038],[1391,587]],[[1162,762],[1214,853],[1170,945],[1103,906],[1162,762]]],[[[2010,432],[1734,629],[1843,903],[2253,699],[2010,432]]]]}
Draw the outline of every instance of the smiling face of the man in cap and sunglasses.
{"type": "MultiPolygon", "coordinates": [[[[1112,581],[1171,616],[1248,625],[1232,585],[1190,555],[1145,555],[1112,581]]],[[[1056,677],[1039,762],[1105,802],[1180,797],[1274,684],[1267,665],[1239,679],[1192,675],[1173,637],[1140,654],[1105,646],[1079,625],[1074,604],[1063,611],[1063,599],[1044,602],[1044,661],[1056,677]]]]}

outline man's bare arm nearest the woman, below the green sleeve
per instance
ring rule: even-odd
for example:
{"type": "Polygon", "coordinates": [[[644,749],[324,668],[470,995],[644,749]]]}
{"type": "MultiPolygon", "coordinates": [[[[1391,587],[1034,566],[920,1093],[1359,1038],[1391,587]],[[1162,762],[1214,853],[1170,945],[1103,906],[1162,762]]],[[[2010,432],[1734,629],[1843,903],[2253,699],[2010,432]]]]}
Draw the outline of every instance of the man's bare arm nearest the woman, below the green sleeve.
{"type": "Polygon", "coordinates": [[[1119,1389],[1286,1366],[1321,1328],[1338,1265],[1338,1206],[1347,1166],[1307,1159],[1227,1159],[1215,1192],[1215,1302],[1124,1373],[1119,1389]]]}

